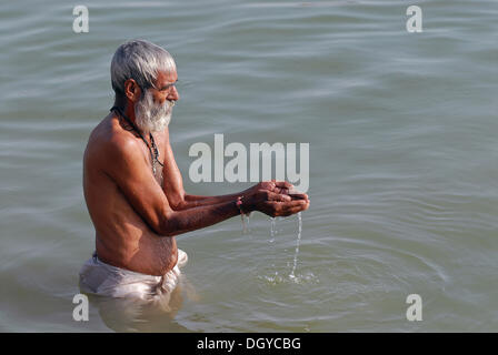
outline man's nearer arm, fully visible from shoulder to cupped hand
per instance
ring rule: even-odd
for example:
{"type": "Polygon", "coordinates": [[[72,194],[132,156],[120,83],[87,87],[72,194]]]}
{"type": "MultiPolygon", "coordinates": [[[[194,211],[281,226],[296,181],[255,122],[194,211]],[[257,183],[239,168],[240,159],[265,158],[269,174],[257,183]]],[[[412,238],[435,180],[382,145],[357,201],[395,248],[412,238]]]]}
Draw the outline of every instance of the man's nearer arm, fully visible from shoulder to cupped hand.
{"type": "MultiPolygon", "coordinates": [[[[159,235],[173,236],[199,230],[240,213],[236,200],[173,211],[136,141],[114,139],[106,144],[100,156],[106,174],[118,184],[133,210],[159,235]]],[[[243,212],[290,215],[309,205],[306,201],[289,200],[286,195],[259,191],[243,201],[243,212]]]]}

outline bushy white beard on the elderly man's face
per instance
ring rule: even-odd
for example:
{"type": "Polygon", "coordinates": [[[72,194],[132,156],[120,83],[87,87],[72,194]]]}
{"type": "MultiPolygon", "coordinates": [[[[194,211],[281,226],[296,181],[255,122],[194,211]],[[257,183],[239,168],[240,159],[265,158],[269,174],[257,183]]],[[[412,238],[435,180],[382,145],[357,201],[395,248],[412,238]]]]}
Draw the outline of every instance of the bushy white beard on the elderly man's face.
{"type": "Polygon", "coordinates": [[[175,101],[166,100],[165,104],[156,104],[152,93],[147,90],[143,98],[135,105],[137,126],[143,132],[163,131],[171,121],[175,101]]]}

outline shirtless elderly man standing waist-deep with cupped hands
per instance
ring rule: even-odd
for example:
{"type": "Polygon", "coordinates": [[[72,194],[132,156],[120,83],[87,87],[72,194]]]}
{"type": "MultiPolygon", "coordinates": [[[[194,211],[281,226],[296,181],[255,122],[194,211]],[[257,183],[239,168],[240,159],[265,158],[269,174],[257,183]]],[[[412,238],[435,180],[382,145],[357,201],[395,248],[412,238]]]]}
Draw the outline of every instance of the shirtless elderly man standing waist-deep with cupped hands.
{"type": "Polygon", "coordinates": [[[169,141],[179,93],[171,55],[147,41],[118,48],[111,63],[114,105],[91,132],[83,190],[96,253],[80,272],[86,293],[153,300],[170,293],[187,254],[175,235],[241,213],[286,216],[308,209],[287,182],[261,182],[221,196],[187,194],[169,141]]]}

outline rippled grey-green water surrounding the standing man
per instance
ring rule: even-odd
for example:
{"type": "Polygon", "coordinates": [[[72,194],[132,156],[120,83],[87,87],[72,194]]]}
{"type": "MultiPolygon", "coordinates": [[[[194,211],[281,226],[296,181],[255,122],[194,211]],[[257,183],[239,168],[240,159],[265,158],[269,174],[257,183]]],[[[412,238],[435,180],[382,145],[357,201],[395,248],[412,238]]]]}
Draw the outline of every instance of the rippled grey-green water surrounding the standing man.
{"type": "Polygon", "coordinates": [[[0,4],[0,329],[9,332],[498,331],[496,1],[64,1],[0,4]],[[408,33],[410,4],[424,32],[408,33]],[[145,38],[176,58],[170,125],[189,148],[309,142],[311,206],[178,237],[173,313],[72,320],[93,251],[81,186],[88,135],[112,103],[110,59],[145,38]],[[275,232],[275,233],[273,233],[275,232]],[[408,322],[419,294],[424,320],[408,322]],[[140,322],[139,322],[140,321],[140,322]]]}

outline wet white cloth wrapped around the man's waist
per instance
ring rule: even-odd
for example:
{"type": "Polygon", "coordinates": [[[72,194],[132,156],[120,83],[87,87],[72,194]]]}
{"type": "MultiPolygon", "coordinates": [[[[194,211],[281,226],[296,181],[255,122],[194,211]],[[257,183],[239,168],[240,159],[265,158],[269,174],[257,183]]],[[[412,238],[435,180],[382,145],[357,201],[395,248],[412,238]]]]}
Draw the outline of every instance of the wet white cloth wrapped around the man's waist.
{"type": "Polygon", "coordinates": [[[179,267],[187,261],[187,253],[178,250],[175,267],[162,276],[153,276],[106,264],[97,257],[97,253],[93,253],[81,267],[80,290],[100,296],[153,301],[175,290],[180,278],[179,267]]]}

